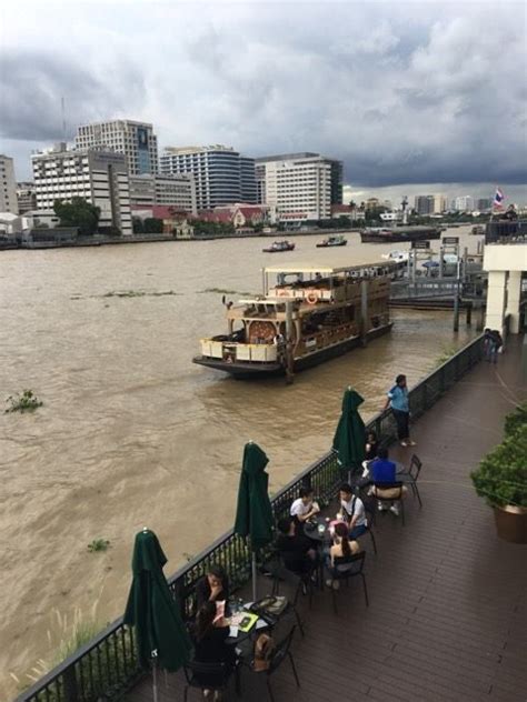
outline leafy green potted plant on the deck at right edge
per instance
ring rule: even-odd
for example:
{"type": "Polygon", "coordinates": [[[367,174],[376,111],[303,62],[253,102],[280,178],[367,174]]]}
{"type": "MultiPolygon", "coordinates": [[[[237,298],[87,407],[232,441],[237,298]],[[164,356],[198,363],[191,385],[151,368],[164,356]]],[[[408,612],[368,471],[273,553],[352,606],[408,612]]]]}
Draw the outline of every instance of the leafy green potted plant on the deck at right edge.
{"type": "Polygon", "coordinates": [[[527,543],[526,409],[507,417],[504,441],[470,473],[476,492],[494,509],[498,536],[514,543],[527,543]]]}

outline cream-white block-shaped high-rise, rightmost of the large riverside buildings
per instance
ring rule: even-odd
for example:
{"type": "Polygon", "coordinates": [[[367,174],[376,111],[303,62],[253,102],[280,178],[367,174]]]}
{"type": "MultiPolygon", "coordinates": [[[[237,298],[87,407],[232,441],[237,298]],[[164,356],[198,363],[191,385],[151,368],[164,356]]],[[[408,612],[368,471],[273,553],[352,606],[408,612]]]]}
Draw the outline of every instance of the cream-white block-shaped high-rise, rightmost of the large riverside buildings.
{"type": "Polygon", "coordinates": [[[342,203],[342,162],[319,153],[282,153],[256,159],[258,200],[281,221],[330,219],[342,203]]]}

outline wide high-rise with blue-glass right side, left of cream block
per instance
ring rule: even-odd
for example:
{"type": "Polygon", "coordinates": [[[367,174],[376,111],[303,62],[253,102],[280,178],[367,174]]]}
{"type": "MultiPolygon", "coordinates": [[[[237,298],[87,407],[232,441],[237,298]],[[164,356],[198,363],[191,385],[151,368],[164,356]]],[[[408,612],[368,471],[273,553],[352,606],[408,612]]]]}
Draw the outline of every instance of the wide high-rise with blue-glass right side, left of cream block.
{"type": "Polygon", "coordinates": [[[163,174],[193,176],[198,210],[257,200],[255,159],[231,147],[169,147],[161,154],[160,170],[163,174]]]}

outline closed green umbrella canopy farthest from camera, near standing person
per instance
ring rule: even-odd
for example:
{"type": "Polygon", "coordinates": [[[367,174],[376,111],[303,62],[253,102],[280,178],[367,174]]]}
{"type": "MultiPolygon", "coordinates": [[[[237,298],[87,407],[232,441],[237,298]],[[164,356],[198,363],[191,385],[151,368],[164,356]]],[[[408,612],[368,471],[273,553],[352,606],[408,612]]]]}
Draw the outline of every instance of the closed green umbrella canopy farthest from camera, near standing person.
{"type": "Polygon", "coordinates": [[[342,413],[334,437],[334,450],[340,465],[347,470],[358,470],[365,460],[365,423],[359,414],[364,398],[348,388],[342,398],[342,413]]]}

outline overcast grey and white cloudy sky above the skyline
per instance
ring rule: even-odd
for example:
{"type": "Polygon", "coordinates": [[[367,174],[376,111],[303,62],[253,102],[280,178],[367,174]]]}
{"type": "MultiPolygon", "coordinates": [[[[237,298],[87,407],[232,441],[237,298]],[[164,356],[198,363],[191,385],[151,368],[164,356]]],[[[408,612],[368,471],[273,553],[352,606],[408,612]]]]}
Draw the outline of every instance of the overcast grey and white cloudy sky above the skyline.
{"type": "Polygon", "coordinates": [[[160,147],[319,151],[346,193],[527,201],[523,2],[26,2],[0,9],[0,151],[78,123],[155,123],[160,147]],[[455,183],[455,184],[453,184],[455,183]]]}

